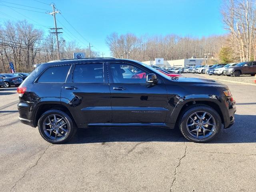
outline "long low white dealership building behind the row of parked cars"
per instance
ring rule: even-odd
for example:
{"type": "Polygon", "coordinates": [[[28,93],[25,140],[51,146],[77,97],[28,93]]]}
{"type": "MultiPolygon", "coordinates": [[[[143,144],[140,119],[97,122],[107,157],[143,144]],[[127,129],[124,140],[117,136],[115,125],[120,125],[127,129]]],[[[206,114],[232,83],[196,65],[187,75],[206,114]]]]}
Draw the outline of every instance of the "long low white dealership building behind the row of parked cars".
{"type": "Polygon", "coordinates": [[[147,65],[156,65],[159,67],[188,67],[188,66],[198,66],[201,65],[204,61],[204,58],[201,59],[179,59],[179,60],[164,60],[163,58],[156,58],[154,61],[143,61],[147,65]]]}

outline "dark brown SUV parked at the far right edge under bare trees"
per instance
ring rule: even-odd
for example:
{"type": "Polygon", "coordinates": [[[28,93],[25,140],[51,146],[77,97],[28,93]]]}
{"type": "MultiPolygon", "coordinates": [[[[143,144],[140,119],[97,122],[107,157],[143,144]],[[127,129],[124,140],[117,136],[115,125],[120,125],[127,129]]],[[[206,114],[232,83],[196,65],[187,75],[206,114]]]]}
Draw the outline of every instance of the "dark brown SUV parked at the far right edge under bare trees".
{"type": "Polygon", "coordinates": [[[239,77],[242,74],[253,76],[256,74],[256,61],[238,63],[235,66],[226,68],[223,74],[227,76],[233,75],[234,77],[239,77]]]}

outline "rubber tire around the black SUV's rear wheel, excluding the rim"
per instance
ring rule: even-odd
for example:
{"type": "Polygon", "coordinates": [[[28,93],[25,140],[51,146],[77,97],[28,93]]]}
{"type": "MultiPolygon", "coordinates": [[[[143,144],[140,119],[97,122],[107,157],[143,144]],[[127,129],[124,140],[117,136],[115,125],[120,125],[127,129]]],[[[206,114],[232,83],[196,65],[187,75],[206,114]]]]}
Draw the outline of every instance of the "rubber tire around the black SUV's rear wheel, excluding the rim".
{"type": "Polygon", "coordinates": [[[71,118],[68,116],[68,114],[66,114],[66,113],[64,113],[60,110],[49,110],[49,111],[44,112],[44,114],[42,114],[42,116],[39,118],[39,120],[38,120],[38,130],[39,130],[42,138],[44,138],[44,140],[46,140],[47,142],[50,142],[52,144],[61,144],[61,143],[68,142],[68,140],[70,140],[70,138],[73,136],[74,125],[73,125],[73,122],[72,122],[71,118]],[[44,133],[43,122],[44,122],[45,118],[47,118],[49,115],[52,115],[52,114],[57,114],[57,115],[60,115],[60,116],[64,117],[64,119],[66,120],[66,122],[68,124],[69,132],[61,140],[50,139],[44,133]]]}

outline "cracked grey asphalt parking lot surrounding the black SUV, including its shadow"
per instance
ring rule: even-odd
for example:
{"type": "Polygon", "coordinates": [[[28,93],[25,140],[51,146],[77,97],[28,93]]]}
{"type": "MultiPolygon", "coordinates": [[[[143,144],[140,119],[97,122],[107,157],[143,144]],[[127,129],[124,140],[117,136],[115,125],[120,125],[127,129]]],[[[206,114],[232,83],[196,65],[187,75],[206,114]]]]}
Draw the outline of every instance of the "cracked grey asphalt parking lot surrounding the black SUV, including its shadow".
{"type": "Polygon", "coordinates": [[[225,84],[236,122],[206,144],[140,127],[78,130],[68,144],[49,144],[19,122],[16,88],[1,88],[0,191],[255,191],[256,86],[225,84]]]}

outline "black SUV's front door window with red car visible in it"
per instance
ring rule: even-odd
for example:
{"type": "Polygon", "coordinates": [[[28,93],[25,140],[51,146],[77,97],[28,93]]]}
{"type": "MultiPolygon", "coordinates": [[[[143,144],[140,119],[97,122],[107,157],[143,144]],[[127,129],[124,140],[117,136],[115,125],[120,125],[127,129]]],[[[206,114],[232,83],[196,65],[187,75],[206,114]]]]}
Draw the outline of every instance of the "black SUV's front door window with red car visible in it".
{"type": "Polygon", "coordinates": [[[114,83],[146,83],[147,72],[130,64],[111,64],[114,83]]]}

